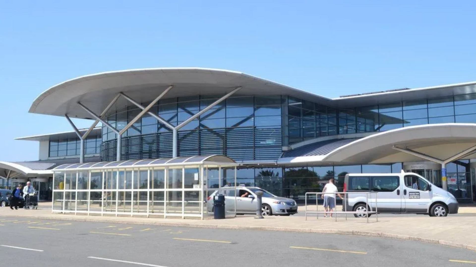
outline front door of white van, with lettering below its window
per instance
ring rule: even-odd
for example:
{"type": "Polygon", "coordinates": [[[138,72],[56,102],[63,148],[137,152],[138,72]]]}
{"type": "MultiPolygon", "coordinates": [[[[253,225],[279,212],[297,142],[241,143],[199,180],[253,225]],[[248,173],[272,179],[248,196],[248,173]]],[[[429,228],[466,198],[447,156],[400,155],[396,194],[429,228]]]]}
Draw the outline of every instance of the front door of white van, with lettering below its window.
{"type": "Polygon", "coordinates": [[[405,175],[403,199],[405,212],[426,213],[430,205],[431,192],[427,181],[416,175],[405,175]]]}

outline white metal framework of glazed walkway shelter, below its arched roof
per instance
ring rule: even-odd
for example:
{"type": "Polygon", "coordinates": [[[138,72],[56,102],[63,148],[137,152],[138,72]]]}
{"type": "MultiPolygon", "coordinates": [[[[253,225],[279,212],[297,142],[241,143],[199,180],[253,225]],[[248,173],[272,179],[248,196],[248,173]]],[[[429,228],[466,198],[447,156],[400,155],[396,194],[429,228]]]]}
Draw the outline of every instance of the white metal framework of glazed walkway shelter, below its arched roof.
{"type": "MultiPolygon", "coordinates": [[[[169,161],[168,161],[169,162],[169,161]]],[[[153,162],[151,162],[153,163],[153,162]]],[[[134,165],[128,165],[128,166],[108,166],[108,164],[104,164],[102,167],[89,167],[89,168],[84,168],[84,169],[79,169],[79,168],[73,168],[73,169],[58,169],[54,170],[53,174],[53,201],[51,205],[51,210],[52,212],[61,212],[61,213],[74,213],[74,214],[100,214],[101,216],[104,215],[112,215],[112,216],[146,216],[150,217],[150,215],[159,215],[163,216],[163,218],[167,217],[180,217],[182,219],[185,218],[200,218],[204,219],[204,213],[206,212],[205,206],[204,206],[204,200],[206,199],[206,195],[204,194],[208,191],[208,188],[205,186],[208,184],[208,167],[211,168],[216,168],[219,170],[219,177],[220,180],[222,179],[222,174],[221,170],[222,167],[234,167],[235,172],[234,172],[234,178],[235,178],[235,186],[234,187],[229,187],[226,190],[231,190],[234,189],[236,191],[236,182],[237,182],[237,163],[232,163],[232,162],[184,162],[184,163],[164,163],[164,164],[151,164],[151,165],[142,165],[142,166],[134,166],[134,165]],[[180,188],[169,188],[169,173],[173,170],[181,170],[182,174],[180,175],[180,181],[181,181],[181,187],[180,188]],[[185,171],[187,169],[194,169],[197,170],[196,173],[198,173],[198,181],[194,181],[194,185],[196,182],[198,182],[198,186],[192,187],[192,188],[185,188],[185,171]],[[163,170],[163,181],[164,181],[164,187],[163,188],[154,188],[154,170],[163,170]],[[204,171],[207,170],[204,175],[204,171]],[[140,172],[141,171],[147,171],[147,189],[140,189],[139,186],[135,188],[134,182],[140,182],[140,172]],[[62,182],[65,186],[69,186],[68,189],[63,188],[62,190],[59,188],[56,188],[57,186],[57,179],[59,179],[60,176],[58,176],[59,173],[62,173],[62,182]],[[79,177],[79,172],[87,172],[88,174],[88,188],[87,189],[79,189],[78,186],[78,177],[79,177]],[[102,179],[101,179],[101,189],[100,191],[98,189],[91,189],[91,173],[92,172],[100,172],[102,173],[102,179]],[[123,189],[119,189],[119,179],[124,180],[124,182],[127,181],[127,175],[128,172],[131,174],[131,181],[132,184],[130,188],[124,187],[123,189]],[[124,177],[122,179],[121,173],[123,173],[124,177]],[[115,174],[115,177],[114,177],[115,174]],[[75,176],[76,179],[76,186],[74,189],[72,189],[72,183],[74,181],[71,180],[69,184],[66,184],[67,177],[73,177],[75,176]],[[110,177],[109,177],[110,176],[110,177]],[[114,188],[109,188],[110,186],[114,185],[112,182],[112,179],[115,179],[115,186],[114,188]],[[101,209],[100,210],[93,210],[91,209],[90,202],[91,200],[91,192],[100,192],[101,194],[101,209]],[[62,198],[61,199],[56,199],[57,193],[61,192],[62,193],[62,198]],[[66,200],[66,194],[71,196],[72,193],[75,193],[75,198],[74,200],[66,200]],[[77,203],[78,203],[78,193],[79,192],[86,192],[87,193],[87,210],[78,210],[77,208],[77,203]],[[115,200],[109,199],[108,193],[115,192],[115,200]],[[119,201],[119,193],[123,193],[126,195],[127,192],[130,192],[130,200],[126,200],[125,197],[123,197],[123,200],[119,201]],[[147,192],[147,210],[146,212],[141,212],[141,207],[140,207],[140,192],[147,192]],[[169,192],[181,192],[181,198],[179,200],[169,200],[169,192]],[[197,192],[198,197],[196,200],[190,200],[186,201],[185,200],[185,195],[186,192],[197,192]],[[134,205],[134,193],[137,193],[137,201],[138,201],[138,208],[135,208],[134,205]],[[157,200],[159,202],[163,202],[163,211],[160,212],[155,212],[154,211],[154,193],[162,193],[164,195],[164,200],[157,200]],[[106,197],[106,198],[105,198],[106,197]],[[66,201],[68,201],[68,208],[66,208],[66,201]],[[73,208],[70,206],[72,204],[72,201],[75,201],[75,207],[73,208]],[[58,209],[55,207],[55,203],[61,203],[61,209],[58,209]],[[106,202],[106,203],[105,203],[106,202]],[[120,203],[119,203],[120,202],[120,203]],[[127,204],[130,202],[130,210],[127,204]],[[180,210],[178,209],[171,209],[170,203],[177,203],[177,207],[181,207],[180,210]],[[111,205],[110,209],[108,209],[108,204],[115,203],[115,209],[111,205]],[[188,203],[197,203],[197,206],[194,206],[198,208],[198,211],[194,209],[193,211],[188,211],[187,210],[187,204],[188,203]],[[105,205],[106,204],[106,205],[105,205]],[[119,206],[121,206],[119,210],[119,206]],[[127,210],[126,210],[127,209],[127,210]],[[205,210],[204,210],[205,209],[205,210]]],[[[94,165],[93,165],[94,166],[94,165]]],[[[194,178],[195,179],[195,178],[194,178]]],[[[222,188],[221,186],[222,181],[219,181],[219,188],[220,190],[222,188]]],[[[210,189],[210,190],[217,190],[217,189],[210,189]]],[[[225,190],[225,189],[222,189],[225,190]]],[[[175,206],[175,205],[173,205],[175,206]]],[[[234,215],[236,216],[236,197],[235,197],[235,212],[234,215]]]]}

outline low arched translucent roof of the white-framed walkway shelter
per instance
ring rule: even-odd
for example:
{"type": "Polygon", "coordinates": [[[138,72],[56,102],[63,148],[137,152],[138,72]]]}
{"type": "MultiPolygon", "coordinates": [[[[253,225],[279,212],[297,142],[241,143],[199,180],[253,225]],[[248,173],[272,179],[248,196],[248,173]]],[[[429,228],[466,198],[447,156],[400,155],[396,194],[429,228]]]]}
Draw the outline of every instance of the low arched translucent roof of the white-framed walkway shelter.
{"type": "Polygon", "coordinates": [[[234,160],[223,155],[207,155],[192,157],[160,158],[147,160],[130,160],[116,162],[89,162],[62,164],[54,171],[88,170],[88,169],[124,169],[124,168],[143,168],[143,167],[166,167],[166,166],[185,166],[185,165],[216,165],[216,166],[238,166],[234,160]]]}

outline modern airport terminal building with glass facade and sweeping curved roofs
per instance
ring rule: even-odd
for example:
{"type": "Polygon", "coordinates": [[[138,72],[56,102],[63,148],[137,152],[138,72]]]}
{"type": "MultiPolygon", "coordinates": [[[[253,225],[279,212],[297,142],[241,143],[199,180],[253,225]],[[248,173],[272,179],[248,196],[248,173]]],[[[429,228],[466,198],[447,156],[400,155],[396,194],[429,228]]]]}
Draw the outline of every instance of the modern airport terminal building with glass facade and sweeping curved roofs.
{"type": "MultiPolygon", "coordinates": [[[[295,200],[330,178],[342,186],[346,173],[403,169],[475,201],[476,82],[331,99],[235,71],[139,69],[52,86],[30,113],[73,127],[17,138],[39,142],[39,161],[0,162],[1,187],[30,180],[40,200],[51,199],[63,164],[224,155],[238,163],[238,184],[295,200]],[[92,125],[78,130],[70,118],[92,125]]],[[[219,172],[209,178],[234,177],[235,168],[219,172]]]]}

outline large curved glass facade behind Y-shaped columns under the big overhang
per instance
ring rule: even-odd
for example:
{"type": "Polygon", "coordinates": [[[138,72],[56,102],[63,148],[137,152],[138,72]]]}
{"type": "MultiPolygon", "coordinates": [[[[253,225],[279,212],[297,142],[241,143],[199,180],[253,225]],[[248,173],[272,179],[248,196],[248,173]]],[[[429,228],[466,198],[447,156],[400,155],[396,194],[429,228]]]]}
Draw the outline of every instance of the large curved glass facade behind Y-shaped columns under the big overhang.
{"type": "MultiPolygon", "coordinates": [[[[160,100],[151,112],[176,126],[221,95],[195,95],[160,100]]],[[[281,95],[235,96],[214,106],[178,131],[178,155],[224,154],[234,160],[277,159],[281,154],[281,95]]],[[[143,105],[147,105],[144,103],[143,105]]],[[[108,122],[123,129],[140,110],[128,106],[109,114],[108,122]]],[[[116,158],[116,134],[103,127],[101,158],[116,158]]],[[[122,138],[122,159],[172,156],[172,132],[144,115],[122,138]]]]}

